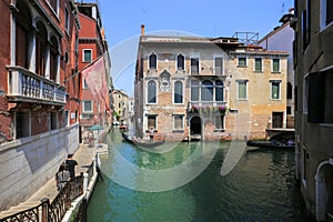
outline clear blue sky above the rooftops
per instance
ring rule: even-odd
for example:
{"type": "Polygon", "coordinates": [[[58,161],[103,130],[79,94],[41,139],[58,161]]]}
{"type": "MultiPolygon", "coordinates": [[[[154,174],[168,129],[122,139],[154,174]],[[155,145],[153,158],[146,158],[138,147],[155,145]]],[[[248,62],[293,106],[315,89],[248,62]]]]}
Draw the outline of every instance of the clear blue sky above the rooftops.
{"type": "Polygon", "coordinates": [[[99,0],[111,54],[115,89],[133,91],[134,62],[141,24],[145,33],[172,30],[200,37],[232,37],[259,32],[264,37],[280,26],[294,0],[99,0]]]}

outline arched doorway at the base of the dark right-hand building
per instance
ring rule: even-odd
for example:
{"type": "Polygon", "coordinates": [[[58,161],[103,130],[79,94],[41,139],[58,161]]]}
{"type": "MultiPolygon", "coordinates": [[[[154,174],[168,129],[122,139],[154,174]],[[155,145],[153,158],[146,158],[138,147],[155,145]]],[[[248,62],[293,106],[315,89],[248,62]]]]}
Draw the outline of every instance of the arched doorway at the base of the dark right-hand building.
{"type": "Polygon", "coordinates": [[[333,219],[333,160],[317,167],[315,175],[316,220],[333,219]]]}

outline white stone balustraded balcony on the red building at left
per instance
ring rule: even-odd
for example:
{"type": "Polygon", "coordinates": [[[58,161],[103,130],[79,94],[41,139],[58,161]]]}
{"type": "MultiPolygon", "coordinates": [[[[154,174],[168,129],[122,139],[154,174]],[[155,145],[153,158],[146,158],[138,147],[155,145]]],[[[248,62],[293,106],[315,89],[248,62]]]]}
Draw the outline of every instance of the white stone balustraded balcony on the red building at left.
{"type": "Polygon", "coordinates": [[[21,67],[7,67],[7,69],[9,70],[9,101],[65,104],[64,87],[21,67]]]}

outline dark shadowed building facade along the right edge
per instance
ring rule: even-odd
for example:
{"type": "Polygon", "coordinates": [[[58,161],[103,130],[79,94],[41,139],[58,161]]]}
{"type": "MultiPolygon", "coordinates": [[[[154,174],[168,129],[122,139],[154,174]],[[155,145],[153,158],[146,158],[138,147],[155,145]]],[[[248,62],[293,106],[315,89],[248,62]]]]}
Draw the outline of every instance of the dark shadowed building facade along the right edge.
{"type": "Polygon", "coordinates": [[[333,221],[333,3],[295,1],[295,169],[309,212],[333,221]]]}

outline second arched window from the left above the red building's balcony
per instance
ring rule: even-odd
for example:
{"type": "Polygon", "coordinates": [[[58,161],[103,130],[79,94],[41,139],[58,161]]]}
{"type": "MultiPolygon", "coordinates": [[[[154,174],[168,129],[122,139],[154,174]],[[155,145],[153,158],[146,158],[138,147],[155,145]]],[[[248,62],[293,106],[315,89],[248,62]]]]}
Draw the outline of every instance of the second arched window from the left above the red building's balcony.
{"type": "Polygon", "coordinates": [[[41,22],[38,22],[36,33],[36,73],[42,77],[46,75],[47,40],[47,29],[41,22]]]}

